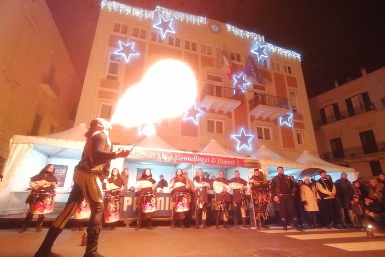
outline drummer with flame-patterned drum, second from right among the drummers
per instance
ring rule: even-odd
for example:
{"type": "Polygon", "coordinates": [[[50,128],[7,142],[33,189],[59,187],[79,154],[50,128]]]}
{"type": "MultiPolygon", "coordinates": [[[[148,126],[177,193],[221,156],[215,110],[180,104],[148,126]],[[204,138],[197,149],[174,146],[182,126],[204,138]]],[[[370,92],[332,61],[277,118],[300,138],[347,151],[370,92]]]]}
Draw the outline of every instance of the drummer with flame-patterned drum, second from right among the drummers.
{"type": "Polygon", "coordinates": [[[138,196],[138,220],[135,230],[139,230],[142,221],[142,212],[145,213],[148,229],[152,230],[151,212],[156,210],[156,181],[152,178],[151,170],[145,169],[135,185],[138,196]],[[144,210],[150,204],[151,209],[144,210]]]}

